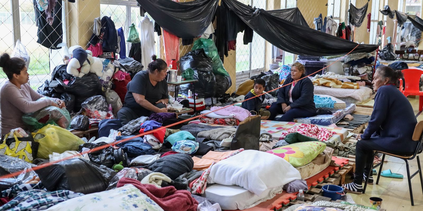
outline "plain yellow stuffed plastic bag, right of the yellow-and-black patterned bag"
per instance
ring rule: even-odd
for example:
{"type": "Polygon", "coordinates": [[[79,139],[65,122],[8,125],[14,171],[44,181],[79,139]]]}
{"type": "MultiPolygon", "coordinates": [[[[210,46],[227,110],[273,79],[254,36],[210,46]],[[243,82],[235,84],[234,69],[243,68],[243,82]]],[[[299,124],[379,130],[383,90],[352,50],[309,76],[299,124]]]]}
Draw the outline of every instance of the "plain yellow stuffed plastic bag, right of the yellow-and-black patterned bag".
{"type": "Polygon", "coordinates": [[[69,130],[52,124],[47,124],[32,135],[39,143],[37,158],[41,159],[49,159],[49,154],[53,152],[61,154],[64,151],[77,151],[85,143],[69,130]]]}

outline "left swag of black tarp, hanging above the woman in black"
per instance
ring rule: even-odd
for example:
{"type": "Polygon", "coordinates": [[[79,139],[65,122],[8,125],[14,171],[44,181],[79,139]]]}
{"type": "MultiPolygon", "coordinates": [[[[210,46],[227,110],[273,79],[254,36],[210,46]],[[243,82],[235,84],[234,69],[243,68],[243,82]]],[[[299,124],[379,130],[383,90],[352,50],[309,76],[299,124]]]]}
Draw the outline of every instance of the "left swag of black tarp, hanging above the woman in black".
{"type": "Polygon", "coordinates": [[[184,39],[203,35],[213,19],[219,0],[137,0],[164,30],[184,39]]]}

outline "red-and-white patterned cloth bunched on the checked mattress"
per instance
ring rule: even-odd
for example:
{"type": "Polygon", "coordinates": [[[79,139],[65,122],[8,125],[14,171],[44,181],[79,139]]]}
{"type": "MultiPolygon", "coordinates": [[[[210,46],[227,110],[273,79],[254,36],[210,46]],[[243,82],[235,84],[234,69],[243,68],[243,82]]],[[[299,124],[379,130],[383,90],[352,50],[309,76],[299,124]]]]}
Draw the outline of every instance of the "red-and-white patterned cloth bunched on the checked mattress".
{"type": "Polygon", "coordinates": [[[326,128],[319,128],[315,124],[300,124],[283,132],[279,140],[283,140],[289,133],[299,133],[311,138],[317,138],[319,141],[327,141],[335,134],[335,132],[330,132],[326,128]]]}

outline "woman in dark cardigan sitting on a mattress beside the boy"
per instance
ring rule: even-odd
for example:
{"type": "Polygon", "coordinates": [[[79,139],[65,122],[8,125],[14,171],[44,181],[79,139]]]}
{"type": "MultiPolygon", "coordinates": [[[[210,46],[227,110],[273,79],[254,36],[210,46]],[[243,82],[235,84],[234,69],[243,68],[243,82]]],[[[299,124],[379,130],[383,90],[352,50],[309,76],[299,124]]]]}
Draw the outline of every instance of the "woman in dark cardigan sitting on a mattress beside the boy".
{"type": "MultiPolygon", "coordinates": [[[[291,67],[291,76],[288,76],[283,85],[305,77],[305,68],[299,62],[291,67]]],[[[291,122],[295,118],[316,116],[316,105],[314,104],[314,86],[310,78],[296,81],[277,92],[277,101],[269,108],[269,120],[274,120],[277,114],[283,114],[276,119],[281,122],[291,122]]]]}

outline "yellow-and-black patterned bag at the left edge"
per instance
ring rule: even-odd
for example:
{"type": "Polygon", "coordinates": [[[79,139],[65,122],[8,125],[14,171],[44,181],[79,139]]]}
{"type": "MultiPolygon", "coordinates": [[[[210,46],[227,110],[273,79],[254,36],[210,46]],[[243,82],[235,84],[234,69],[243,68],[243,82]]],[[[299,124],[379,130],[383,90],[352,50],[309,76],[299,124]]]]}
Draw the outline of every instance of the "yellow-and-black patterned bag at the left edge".
{"type": "Polygon", "coordinates": [[[36,159],[37,150],[38,143],[34,141],[32,136],[18,137],[14,133],[5,135],[0,144],[0,154],[17,157],[26,162],[33,162],[36,159]]]}

